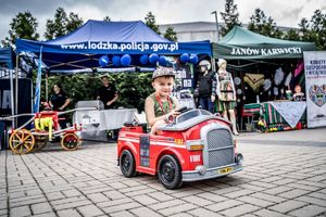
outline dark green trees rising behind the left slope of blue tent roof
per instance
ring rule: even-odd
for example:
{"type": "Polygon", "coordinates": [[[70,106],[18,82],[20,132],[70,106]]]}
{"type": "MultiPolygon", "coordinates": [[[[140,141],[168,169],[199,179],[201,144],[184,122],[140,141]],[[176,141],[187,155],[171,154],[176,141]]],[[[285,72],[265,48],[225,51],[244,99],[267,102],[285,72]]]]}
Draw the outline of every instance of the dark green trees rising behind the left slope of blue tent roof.
{"type": "Polygon", "coordinates": [[[62,8],[58,8],[54,13],[54,20],[47,20],[46,39],[54,39],[65,36],[83,25],[83,20],[77,14],[66,12],[62,8]]]}

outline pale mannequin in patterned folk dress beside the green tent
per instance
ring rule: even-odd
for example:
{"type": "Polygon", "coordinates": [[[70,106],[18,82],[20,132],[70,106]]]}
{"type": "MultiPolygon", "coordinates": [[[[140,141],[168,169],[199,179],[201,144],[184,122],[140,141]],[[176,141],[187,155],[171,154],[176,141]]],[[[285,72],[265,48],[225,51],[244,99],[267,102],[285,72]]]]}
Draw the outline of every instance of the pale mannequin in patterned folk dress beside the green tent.
{"type": "Polygon", "coordinates": [[[229,119],[233,123],[233,132],[238,136],[237,123],[235,116],[236,106],[236,88],[233,76],[226,71],[226,61],[220,59],[217,62],[218,71],[216,73],[216,110],[222,113],[225,119],[229,119]],[[229,118],[228,118],[229,116],[229,118]]]}

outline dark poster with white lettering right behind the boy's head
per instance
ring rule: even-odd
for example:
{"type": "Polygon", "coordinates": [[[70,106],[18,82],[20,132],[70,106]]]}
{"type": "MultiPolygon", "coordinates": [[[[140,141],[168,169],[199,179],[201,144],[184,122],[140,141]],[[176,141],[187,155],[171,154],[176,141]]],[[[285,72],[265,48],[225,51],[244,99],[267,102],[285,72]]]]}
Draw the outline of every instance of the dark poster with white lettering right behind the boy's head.
{"type": "Polygon", "coordinates": [[[193,88],[193,73],[189,64],[175,64],[175,87],[173,95],[178,100],[179,106],[196,107],[191,89],[193,88]]]}

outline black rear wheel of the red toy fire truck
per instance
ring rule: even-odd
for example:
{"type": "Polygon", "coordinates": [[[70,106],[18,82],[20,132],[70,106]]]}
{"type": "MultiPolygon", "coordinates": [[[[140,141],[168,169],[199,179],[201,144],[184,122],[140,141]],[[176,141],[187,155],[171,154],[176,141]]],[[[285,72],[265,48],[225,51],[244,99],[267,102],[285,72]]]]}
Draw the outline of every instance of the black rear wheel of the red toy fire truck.
{"type": "Polygon", "coordinates": [[[136,176],[135,157],[129,150],[124,150],[120,157],[120,169],[125,177],[136,176]]]}

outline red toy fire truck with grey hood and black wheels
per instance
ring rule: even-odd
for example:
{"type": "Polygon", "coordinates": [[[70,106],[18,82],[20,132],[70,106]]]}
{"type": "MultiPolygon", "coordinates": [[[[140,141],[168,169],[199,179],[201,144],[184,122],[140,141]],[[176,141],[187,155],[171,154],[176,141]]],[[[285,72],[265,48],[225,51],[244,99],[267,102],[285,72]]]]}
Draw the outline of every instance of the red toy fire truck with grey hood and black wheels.
{"type": "Polygon", "coordinates": [[[141,126],[125,125],[118,135],[118,165],[124,176],[156,175],[167,189],[242,170],[230,123],[204,110],[190,110],[173,124],[149,135],[141,126]]]}

